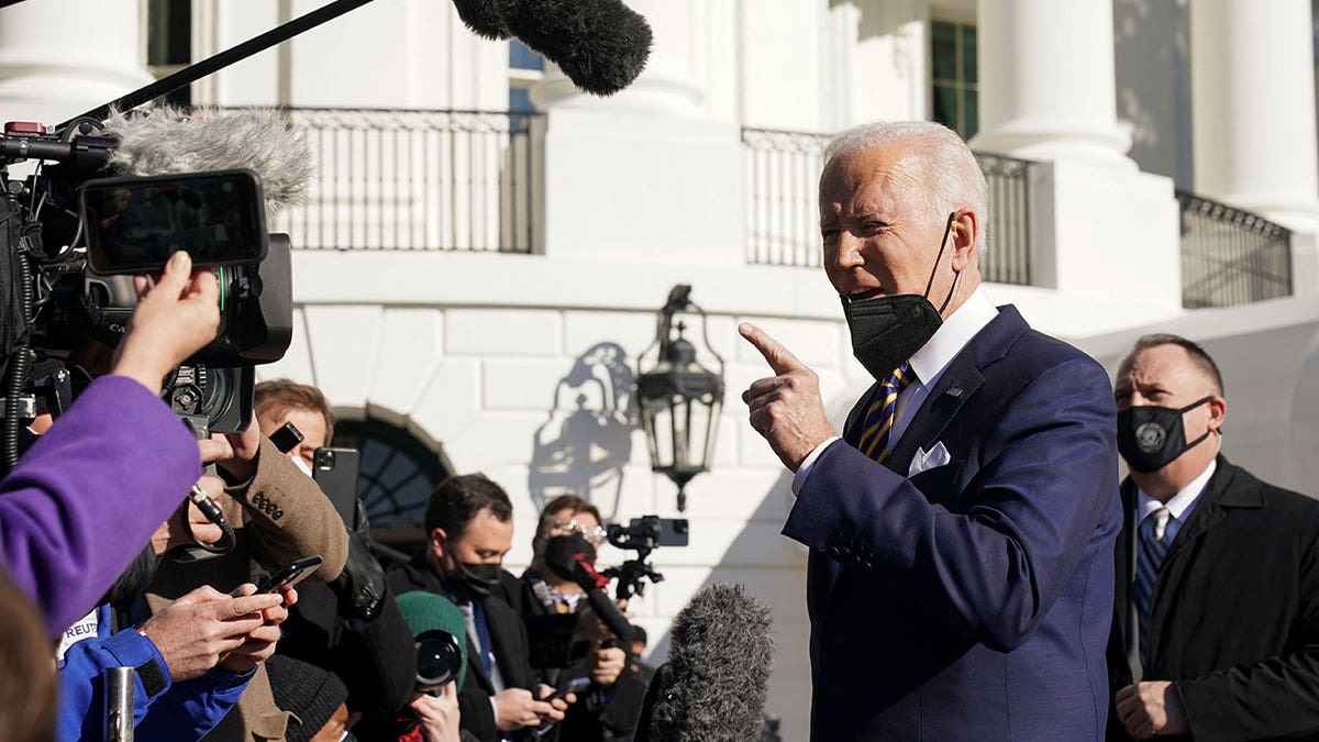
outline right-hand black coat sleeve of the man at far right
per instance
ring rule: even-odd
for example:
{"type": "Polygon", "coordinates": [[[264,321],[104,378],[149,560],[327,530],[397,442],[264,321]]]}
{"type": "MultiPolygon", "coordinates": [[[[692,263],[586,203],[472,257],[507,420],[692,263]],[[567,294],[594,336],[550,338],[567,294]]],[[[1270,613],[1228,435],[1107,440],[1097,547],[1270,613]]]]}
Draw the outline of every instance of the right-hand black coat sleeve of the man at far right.
{"type": "MultiPolygon", "coordinates": [[[[1306,533],[1319,533],[1310,519],[1306,533]]],[[[1301,561],[1291,652],[1174,683],[1200,742],[1310,738],[1319,730],[1319,540],[1301,561]]]]}

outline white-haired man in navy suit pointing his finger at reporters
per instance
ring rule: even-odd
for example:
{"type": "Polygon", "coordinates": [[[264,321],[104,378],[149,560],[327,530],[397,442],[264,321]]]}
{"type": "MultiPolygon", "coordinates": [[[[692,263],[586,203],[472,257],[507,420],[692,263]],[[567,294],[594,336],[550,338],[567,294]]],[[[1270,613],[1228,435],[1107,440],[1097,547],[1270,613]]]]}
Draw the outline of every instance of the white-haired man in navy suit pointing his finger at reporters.
{"type": "Polygon", "coordinates": [[[776,374],[743,399],[795,471],[783,533],[811,549],[811,738],[1103,738],[1107,372],[989,302],[985,181],[947,128],[843,133],[819,201],[824,271],[877,380],[842,438],[815,374],[740,327],[776,374]]]}

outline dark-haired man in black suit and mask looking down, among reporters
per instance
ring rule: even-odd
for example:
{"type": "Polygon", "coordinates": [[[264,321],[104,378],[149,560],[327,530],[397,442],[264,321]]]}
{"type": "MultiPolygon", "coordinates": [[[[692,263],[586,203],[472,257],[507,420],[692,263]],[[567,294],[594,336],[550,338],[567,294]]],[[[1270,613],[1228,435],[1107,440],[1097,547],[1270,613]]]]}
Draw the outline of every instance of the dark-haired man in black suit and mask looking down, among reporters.
{"type": "Polygon", "coordinates": [[[536,687],[522,619],[492,595],[513,544],[513,504],[483,474],[450,477],[426,503],[430,541],[388,576],[396,595],[426,590],[445,595],[468,617],[467,677],[458,692],[462,727],[483,741],[521,739],[563,720],[575,700],[538,701],[553,689],[536,687]],[[533,696],[534,691],[534,696],[533,696]]]}

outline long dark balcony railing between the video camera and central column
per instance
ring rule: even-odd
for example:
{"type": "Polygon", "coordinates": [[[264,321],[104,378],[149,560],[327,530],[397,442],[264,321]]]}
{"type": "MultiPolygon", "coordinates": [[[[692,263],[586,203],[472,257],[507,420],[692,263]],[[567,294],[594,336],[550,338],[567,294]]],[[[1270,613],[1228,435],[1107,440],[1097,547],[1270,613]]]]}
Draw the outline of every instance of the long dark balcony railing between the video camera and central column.
{"type": "Polygon", "coordinates": [[[532,252],[533,116],[291,108],[315,174],[276,228],[299,250],[532,252]]]}

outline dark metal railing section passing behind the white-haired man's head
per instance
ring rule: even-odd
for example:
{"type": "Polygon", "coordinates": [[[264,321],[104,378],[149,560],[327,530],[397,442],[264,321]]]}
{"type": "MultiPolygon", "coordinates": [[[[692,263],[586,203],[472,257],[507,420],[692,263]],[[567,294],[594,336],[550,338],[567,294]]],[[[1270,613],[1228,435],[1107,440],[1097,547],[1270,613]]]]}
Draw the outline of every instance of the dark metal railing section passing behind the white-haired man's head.
{"type": "MultiPolygon", "coordinates": [[[[747,261],[765,265],[820,265],[816,187],[831,135],[743,129],[747,153],[747,261]]],[[[1031,281],[1030,168],[1033,162],[976,154],[989,185],[985,280],[1031,281]]]]}

